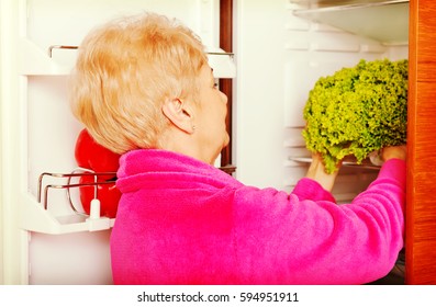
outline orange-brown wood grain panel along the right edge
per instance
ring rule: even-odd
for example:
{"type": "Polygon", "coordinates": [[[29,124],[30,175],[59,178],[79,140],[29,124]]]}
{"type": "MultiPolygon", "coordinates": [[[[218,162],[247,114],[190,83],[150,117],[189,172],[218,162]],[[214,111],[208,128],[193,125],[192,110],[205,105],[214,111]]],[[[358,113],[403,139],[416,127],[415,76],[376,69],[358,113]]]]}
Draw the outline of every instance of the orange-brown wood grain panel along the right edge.
{"type": "Polygon", "coordinates": [[[407,284],[436,284],[436,1],[410,1],[407,284]]]}

